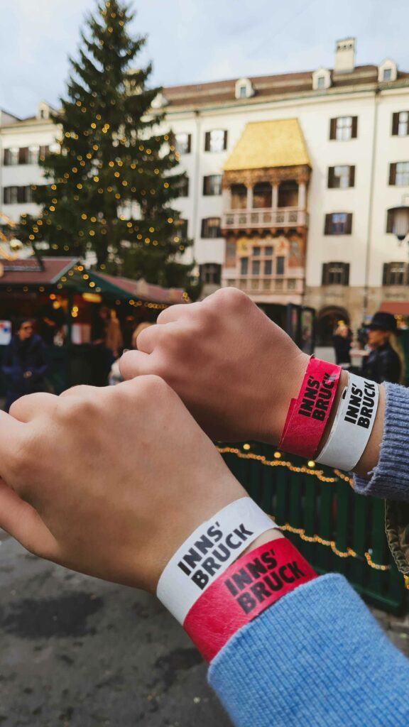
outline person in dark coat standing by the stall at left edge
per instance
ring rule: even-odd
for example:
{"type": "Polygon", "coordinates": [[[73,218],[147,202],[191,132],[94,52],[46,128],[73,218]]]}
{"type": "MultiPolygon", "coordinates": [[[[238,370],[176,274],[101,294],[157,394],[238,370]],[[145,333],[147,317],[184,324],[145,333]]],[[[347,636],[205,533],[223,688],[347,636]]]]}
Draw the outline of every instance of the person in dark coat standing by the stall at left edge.
{"type": "Polygon", "coordinates": [[[20,396],[44,391],[48,369],[44,342],[33,333],[33,323],[23,318],[7,346],[1,370],[7,379],[5,411],[20,396]]]}

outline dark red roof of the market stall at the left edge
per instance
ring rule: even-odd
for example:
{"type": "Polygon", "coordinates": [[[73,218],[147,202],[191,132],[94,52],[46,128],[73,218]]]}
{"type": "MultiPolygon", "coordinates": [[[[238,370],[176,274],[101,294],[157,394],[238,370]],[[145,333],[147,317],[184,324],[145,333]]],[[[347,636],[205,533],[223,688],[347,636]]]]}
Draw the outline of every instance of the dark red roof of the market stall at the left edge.
{"type": "Polygon", "coordinates": [[[4,260],[0,285],[52,285],[78,262],[76,257],[35,257],[26,260],[4,260]]]}

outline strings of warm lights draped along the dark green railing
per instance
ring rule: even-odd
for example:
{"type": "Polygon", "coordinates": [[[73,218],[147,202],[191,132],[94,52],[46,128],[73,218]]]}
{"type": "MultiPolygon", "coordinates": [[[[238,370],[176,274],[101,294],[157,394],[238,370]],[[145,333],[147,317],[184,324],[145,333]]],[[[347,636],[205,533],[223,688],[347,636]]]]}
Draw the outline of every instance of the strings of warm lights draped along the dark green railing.
{"type": "MultiPolygon", "coordinates": [[[[275,459],[267,459],[263,456],[263,454],[253,454],[253,452],[242,452],[237,447],[217,447],[220,454],[235,454],[236,457],[239,457],[239,459],[253,459],[256,462],[261,462],[262,465],[266,465],[266,467],[287,467],[287,470],[290,470],[290,472],[295,473],[302,473],[305,475],[314,475],[317,477],[317,479],[320,482],[328,482],[328,483],[335,483],[338,478],[341,480],[344,480],[349,484],[349,486],[353,486],[352,478],[349,477],[349,475],[346,475],[345,473],[341,472],[340,470],[334,469],[334,474],[336,477],[325,477],[322,472],[323,470],[317,470],[315,469],[314,465],[315,462],[310,460],[309,464],[307,466],[303,467],[297,467],[296,465],[293,465],[292,462],[289,462],[287,460],[282,460],[281,458],[281,452],[276,451],[274,452],[274,458],[275,459]]],[[[250,444],[244,444],[243,449],[250,449],[250,444]]],[[[271,518],[274,520],[274,518],[271,518]]],[[[278,523],[277,523],[278,524],[278,523]]],[[[306,531],[303,528],[294,528],[290,523],[285,523],[284,525],[278,525],[281,530],[288,531],[290,533],[293,533],[295,535],[298,535],[298,537],[301,538],[301,540],[309,543],[318,543],[319,545],[325,545],[327,547],[330,547],[333,553],[335,555],[338,555],[338,558],[360,558],[361,556],[356,553],[355,550],[353,550],[351,547],[347,547],[346,550],[338,550],[338,548],[335,545],[335,540],[325,540],[324,538],[320,537],[319,535],[306,535],[306,531]]],[[[368,563],[368,566],[370,568],[373,568],[376,571],[389,571],[391,569],[391,566],[382,565],[381,563],[374,563],[370,553],[368,551],[365,553],[365,560],[368,563]]],[[[409,582],[409,579],[408,579],[409,582]]],[[[407,585],[407,587],[409,587],[407,585]]]]}

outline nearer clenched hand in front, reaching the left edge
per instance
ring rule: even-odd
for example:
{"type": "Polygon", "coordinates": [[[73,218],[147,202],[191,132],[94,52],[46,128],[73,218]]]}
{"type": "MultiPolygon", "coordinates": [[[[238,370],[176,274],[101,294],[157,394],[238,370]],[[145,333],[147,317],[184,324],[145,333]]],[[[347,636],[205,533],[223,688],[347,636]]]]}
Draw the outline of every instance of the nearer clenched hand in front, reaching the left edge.
{"type": "Polygon", "coordinates": [[[175,550],[245,490],[157,377],[0,411],[0,527],[36,555],[154,591],[175,550]]]}

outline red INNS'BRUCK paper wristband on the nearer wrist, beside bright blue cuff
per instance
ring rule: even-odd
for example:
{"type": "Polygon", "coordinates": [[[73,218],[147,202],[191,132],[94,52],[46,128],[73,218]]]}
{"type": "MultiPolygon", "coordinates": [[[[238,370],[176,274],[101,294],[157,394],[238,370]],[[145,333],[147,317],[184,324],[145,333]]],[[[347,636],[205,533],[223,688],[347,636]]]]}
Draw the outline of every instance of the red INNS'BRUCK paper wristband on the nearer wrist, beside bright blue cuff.
{"type": "Polygon", "coordinates": [[[188,611],[183,628],[211,662],[239,629],[316,577],[290,540],[271,540],[229,566],[188,611]]]}

